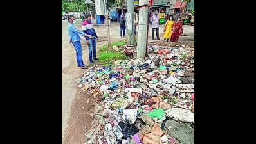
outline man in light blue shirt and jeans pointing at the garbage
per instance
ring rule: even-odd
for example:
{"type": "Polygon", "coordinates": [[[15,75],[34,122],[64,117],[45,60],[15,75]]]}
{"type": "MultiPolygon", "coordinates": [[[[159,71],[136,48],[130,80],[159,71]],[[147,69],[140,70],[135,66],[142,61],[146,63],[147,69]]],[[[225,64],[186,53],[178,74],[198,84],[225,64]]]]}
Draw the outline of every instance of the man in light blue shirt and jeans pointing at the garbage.
{"type": "Polygon", "coordinates": [[[75,47],[75,51],[77,54],[77,67],[81,67],[82,69],[86,69],[87,67],[84,67],[84,62],[82,59],[82,46],[81,46],[81,38],[79,35],[82,36],[88,36],[89,38],[93,38],[91,35],[87,35],[86,33],[83,33],[82,31],[79,31],[77,28],[75,28],[75,17],[73,15],[69,15],[68,17],[68,35],[69,35],[69,43],[73,44],[75,47]]]}

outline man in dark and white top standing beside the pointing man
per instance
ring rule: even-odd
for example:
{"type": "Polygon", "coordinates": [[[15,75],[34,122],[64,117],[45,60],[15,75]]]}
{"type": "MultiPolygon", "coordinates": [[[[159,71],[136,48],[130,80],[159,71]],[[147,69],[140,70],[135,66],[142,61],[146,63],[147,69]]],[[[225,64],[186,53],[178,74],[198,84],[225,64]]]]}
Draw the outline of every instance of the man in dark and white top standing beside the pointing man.
{"type": "Polygon", "coordinates": [[[98,58],[96,58],[96,38],[98,39],[98,36],[95,32],[95,29],[93,28],[93,23],[91,22],[91,15],[86,15],[86,20],[82,24],[82,30],[87,35],[94,36],[93,38],[90,38],[88,36],[85,36],[87,40],[87,44],[89,47],[89,61],[90,63],[93,63],[93,59],[98,61],[98,58]],[[92,53],[93,53],[93,59],[92,59],[92,53]]]}

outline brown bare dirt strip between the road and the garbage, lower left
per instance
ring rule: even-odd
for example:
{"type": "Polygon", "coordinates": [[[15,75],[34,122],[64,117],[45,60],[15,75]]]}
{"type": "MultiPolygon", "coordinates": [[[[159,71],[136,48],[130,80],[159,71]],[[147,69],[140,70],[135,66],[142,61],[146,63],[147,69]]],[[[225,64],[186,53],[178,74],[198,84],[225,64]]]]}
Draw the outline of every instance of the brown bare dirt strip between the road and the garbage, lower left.
{"type": "Polygon", "coordinates": [[[92,117],[94,112],[95,99],[92,95],[81,93],[80,89],[75,95],[75,99],[71,104],[71,113],[68,119],[68,127],[64,131],[63,144],[84,144],[85,133],[92,127],[92,123],[96,118],[92,117]]]}

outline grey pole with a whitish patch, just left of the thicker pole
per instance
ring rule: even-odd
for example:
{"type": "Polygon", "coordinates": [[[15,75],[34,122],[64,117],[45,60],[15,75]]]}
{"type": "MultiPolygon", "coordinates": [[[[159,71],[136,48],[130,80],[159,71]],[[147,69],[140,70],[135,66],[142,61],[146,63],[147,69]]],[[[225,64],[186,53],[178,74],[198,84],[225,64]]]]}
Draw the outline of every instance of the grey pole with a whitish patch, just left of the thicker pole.
{"type": "Polygon", "coordinates": [[[134,0],[127,1],[127,14],[126,14],[127,27],[126,31],[128,33],[128,45],[134,46],[134,0]]]}

